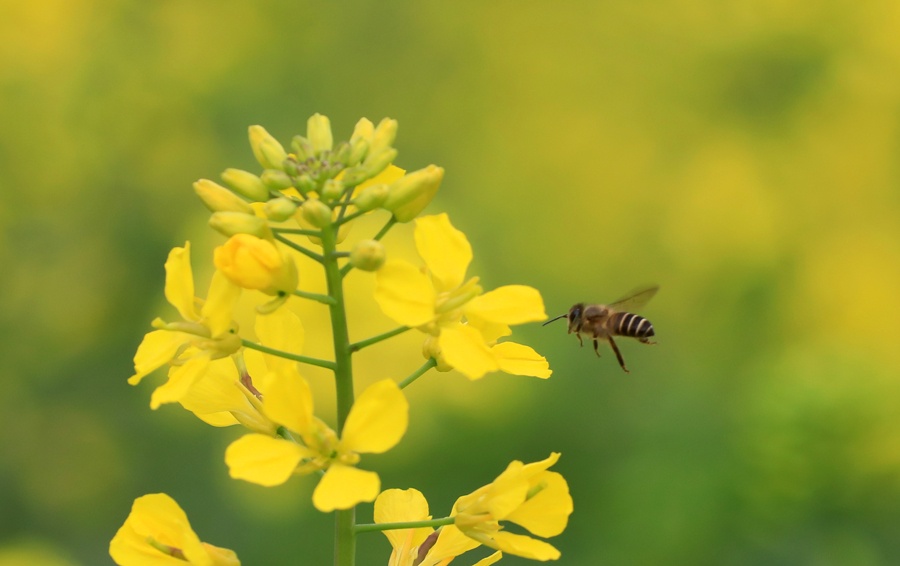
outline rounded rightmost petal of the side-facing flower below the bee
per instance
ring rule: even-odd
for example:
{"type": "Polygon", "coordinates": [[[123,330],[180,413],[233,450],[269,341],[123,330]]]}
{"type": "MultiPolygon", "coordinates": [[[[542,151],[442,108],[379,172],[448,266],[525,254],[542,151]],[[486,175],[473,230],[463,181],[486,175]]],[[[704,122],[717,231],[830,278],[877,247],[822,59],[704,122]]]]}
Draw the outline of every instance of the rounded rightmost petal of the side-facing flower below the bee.
{"type": "Polygon", "coordinates": [[[566,529],[572,514],[569,485],[556,472],[541,472],[536,479],[540,491],[507,515],[506,520],[540,537],[556,536],[566,529]]]}

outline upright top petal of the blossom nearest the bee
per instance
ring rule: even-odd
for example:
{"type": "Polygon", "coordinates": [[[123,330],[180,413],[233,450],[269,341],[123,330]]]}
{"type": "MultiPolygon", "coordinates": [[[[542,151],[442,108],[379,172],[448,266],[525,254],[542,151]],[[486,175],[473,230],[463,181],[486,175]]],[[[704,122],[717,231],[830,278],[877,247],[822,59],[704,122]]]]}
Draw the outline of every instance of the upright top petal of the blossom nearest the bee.
{"type": "Polygon", "coordinates": [[[472,261],[472,246],[466,235],[450,224],[446,214],[416,220],[416,249],[441,290],[459,287],[472,261]]]}

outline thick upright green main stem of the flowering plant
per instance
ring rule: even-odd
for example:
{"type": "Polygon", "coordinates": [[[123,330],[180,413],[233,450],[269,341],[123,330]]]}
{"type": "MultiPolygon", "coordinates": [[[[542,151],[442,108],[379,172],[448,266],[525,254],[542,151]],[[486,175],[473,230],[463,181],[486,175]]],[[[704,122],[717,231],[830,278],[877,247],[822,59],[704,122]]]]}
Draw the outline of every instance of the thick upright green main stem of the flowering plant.
{"type": "MultiPolygon", "coordinates": [[[[331,314],[331,334],[334,339],[334,382],[337,393],[338,436],[344,429],[347,416],[353,407],[353,360],[350,349],[350,332],[347,328],[347,312],[344,305],[344,288],[341,269],[334,253],[337,251],[337,227],[322,229],[322,265],[328,295],[334,304],[328,305],[331,314]]],[[[356,561],[356,507],[338,510],[334,517],[335,566],[353,566],[356,561]]]]}

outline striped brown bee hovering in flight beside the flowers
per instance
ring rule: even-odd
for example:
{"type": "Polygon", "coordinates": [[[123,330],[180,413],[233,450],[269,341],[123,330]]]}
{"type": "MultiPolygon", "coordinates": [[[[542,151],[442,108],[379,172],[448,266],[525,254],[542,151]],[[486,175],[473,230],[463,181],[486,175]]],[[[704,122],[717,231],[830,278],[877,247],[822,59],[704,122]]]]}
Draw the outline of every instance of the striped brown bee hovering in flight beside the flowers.
{"type": "Polygon", "coordinates": [[[622,366],[625,373],[630,373],[628,368],[625,367],[625,360],[622,359],[622,353],[619,352],[619,347],[616,346],[613,336],[628,336],[637,338],[639,342],[644,344],[656,344],[656,342],[650,341],[650,338],[656,334],[650,321],[642,316],[627,312],[627,310],[637,310],[644,306],[647,304],[647,301],[653,298],[657,291],[659,291],[659,286],[653,285],[639,288],[608,305],[578,303],[569,309],[569,312],[566,314],[551,318],[542,326],[547,326],[561,318],[568,319],[569,334],[574,332],[578,336],[578,343],[582,346],[584,346],[584,342],[581,339],[582,334],[590,336],[594,340],[594,352],[596,352],[597,356],[600,355],[600,350],[598,350],[600,340],[608,340],[613,352],[616,353],[619,365],[622,366]]]}

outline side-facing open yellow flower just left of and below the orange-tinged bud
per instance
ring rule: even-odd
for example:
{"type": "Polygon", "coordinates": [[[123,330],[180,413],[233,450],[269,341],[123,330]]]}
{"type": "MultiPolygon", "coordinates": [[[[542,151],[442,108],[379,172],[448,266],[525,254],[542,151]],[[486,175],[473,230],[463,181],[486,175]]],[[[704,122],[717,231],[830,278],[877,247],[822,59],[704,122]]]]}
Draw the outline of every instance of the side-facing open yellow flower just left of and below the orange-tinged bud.
{"type": "Polygon", "coordinates": [[[181,399],[197,378],[206,370],[210,360],[237,352],[241,339],[231,320],[232,310],[240,288],[224,275],[216,272],[209,286],[206,301],[194,296],[194,277],[191,271],[190,242],[174,248],[166,261],[166,299],[175,307],[182,320],[153,321],[158,330],[148,332],[134,355],[134,375],[128,383],[137,385],[152,371],[172,364],[169,380],[156,388],[150,407],[181,399]],[[201,303],[197,311],[197,303],[201,303]]]}

